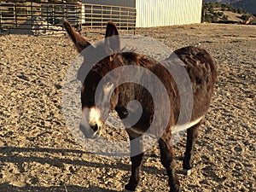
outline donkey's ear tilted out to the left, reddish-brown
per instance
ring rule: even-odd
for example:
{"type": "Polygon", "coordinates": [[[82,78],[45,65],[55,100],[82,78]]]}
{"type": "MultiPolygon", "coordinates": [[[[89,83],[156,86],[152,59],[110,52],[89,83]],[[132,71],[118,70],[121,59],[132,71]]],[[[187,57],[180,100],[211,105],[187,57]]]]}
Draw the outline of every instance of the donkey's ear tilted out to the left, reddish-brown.
{"type": "Polygon", "coordinates": [[[78,32],[76,32],[67,20],[64,20],[63,26],[65,27],[69,37],[73,40],[73,43],[76,45],[79,52],[90,46],[90,43],[78,32]]]}

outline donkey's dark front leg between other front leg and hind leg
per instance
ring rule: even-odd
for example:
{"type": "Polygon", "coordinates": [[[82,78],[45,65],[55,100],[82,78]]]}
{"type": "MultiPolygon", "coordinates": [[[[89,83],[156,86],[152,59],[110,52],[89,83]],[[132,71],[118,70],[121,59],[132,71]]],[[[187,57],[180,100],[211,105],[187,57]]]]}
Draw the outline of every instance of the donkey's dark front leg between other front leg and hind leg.
{"type": "Polygon", "coordinates": [[[173,146],[170,141],[165,142],[162,138],[159,140],[160,146],[160,160],[162,165],[166,168],[169,180],[168,184],[170,186],[170,192],[179,191],[179,182],[176,175],[176,165],[174,160],[173,146]]]}

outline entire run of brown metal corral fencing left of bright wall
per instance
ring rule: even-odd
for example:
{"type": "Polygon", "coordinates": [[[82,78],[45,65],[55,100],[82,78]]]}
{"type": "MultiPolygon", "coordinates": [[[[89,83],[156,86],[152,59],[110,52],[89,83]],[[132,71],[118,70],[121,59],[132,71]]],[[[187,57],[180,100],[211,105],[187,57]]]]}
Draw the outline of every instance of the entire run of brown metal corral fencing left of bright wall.
{"type": "Polygon", "coordinates": [[[89,3],[1,3],[0,33],[11,29],[63,30],[63,20],[69,20],[78,32],[103,29],[112,20],[119,29],[136,26],[136,9],[89,3]]]}

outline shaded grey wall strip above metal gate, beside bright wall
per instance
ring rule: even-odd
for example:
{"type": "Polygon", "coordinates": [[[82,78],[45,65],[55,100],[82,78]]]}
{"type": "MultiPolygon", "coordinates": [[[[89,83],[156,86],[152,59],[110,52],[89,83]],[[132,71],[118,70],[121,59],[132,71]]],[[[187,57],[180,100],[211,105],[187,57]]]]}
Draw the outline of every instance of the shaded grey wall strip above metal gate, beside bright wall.
{"type": "Polygon", "coordinates": [[[136,0],[82,0],[81,2],[135,8],[136,0]]]}

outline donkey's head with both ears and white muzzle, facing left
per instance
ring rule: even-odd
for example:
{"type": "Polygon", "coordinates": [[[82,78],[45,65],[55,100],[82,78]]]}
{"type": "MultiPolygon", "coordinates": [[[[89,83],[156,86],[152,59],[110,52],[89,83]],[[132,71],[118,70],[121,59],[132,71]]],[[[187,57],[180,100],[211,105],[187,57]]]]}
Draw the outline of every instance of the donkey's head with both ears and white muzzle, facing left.
{"type": "MultiPolygon", "coordinates": [[[[113,84],[106,81],[99,84],[102,77],[111,70],[113,67],[113,59],[119,51],[119,32],[116,26],[112,22],[108,22],[105,40],[103,44],[98,44],[96,47],[92,46],[84,37],[78,32],[75,32],[73,27],[67,20],[64,21],[63,26],[66,28],[70,38],[79,52],[90,47],[92,51],[91,55],[85,54],[83,65],[86,65],[86,61],[90,61],[95,54],[108,55],[101,61],[96,61],[95,66],[90,70],[86,77],[83,79],[83,87],[81,90],[81,102],[83,117],[80,122],[80,130],[83,131],[85,137],[96,137],[102,133],[102,113],[96,106],[96,89],[100,89],[101,94],[97,95],[97,101],[106,102],[109,98],[110,90],[113,88],[113,84]]],[[[113,101],[113,96],[111,97],[113,101]]],[[[108,100],[109,101],[109,100],[108,100]]],[[[109,104],[109,103],[108,103],[109,104]]],[[[113,103],[112,103],[113,104],[113,103]]],[[[102,106],[101,106],[102,107],[102,106]]]]}

